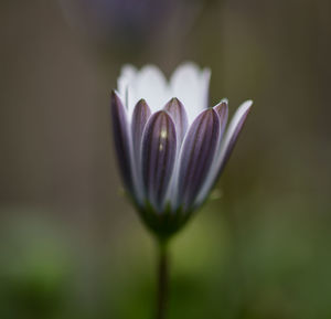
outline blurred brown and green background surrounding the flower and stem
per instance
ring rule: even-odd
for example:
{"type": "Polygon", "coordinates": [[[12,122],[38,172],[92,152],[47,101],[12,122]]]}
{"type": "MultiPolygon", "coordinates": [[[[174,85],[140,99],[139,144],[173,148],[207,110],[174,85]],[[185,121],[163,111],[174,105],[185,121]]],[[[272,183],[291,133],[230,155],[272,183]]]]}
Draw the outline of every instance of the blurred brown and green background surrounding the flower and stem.
{"type": "Polygon", "coordinates": [[[125,63],[255,104],[172,245],[170,319],[331,318],[329,0],[0,1],[0,318],[147,319],[156,247],[121,194],[125,63]]]}

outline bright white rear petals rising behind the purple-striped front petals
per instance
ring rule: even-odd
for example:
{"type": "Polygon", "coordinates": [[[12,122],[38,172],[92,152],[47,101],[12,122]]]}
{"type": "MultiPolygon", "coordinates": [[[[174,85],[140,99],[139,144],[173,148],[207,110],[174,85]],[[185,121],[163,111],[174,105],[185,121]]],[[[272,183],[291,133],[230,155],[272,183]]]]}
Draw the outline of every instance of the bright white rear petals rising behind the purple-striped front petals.
{"type": "Polygon", "coordinates": [[[146,65],[138,71],[132,65],[125,65],[118,78],[118,93],[126,104],[129,119],[139,99],[143,98],[151,111],[162,109],[167,102],[177,97],[184,106],[189,123],[207,107],[211,71],[200,70],[192,62],[180,65],[170,82],[154,65],[146,65]]]}

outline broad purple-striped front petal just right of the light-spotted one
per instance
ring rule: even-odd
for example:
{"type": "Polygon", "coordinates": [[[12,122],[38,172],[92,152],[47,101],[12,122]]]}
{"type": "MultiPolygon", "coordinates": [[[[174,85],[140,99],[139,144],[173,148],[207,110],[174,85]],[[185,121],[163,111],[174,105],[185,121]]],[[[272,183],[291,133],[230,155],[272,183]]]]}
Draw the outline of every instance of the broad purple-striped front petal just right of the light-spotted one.
{"type": "Polygon", "coordinates": [[[213,108],[200,114],[191,125],[183,141],[178,199],[188,209],[197,195],[210,171],[220,141],[220,118],[213,108]]]}

